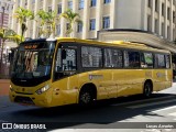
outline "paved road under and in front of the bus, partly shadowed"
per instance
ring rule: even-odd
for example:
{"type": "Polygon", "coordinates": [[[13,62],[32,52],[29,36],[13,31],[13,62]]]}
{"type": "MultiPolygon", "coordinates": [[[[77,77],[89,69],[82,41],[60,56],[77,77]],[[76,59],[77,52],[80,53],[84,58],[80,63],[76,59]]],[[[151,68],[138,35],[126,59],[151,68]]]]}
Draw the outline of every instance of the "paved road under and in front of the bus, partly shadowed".
{"type": "Polygon", "coordinates": [[[43,123],[46,124],[47,131],[54,132],[79,132],[84,129],[95,132],[99,129],[102,132],[175,132],[172,125],[176,129],[176,84],[169,89],[154,94],[151,99],[134,96],[103,100],[87,109],[76,105],[47,109],[19,106],[11,103],[7,96],[1,96],[0,122],[43,123]],[[154,127],[161,124],[157,122],[164,122],[162,125],[169,124],[170,128],[156,129],[154,127]],[[146,129],[150,127],[153,128],[146,129]]]}

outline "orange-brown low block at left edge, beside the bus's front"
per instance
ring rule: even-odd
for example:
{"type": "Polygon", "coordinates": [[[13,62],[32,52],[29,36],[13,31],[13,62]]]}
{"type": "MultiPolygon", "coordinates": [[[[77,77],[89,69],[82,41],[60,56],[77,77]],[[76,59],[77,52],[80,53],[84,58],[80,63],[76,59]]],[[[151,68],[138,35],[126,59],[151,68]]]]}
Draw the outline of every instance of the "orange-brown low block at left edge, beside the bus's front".
{"type": "Polygon", "coordinates": [[[0,79],[0,96],[8,96],[9,95],[9,79],[0,79]]]}

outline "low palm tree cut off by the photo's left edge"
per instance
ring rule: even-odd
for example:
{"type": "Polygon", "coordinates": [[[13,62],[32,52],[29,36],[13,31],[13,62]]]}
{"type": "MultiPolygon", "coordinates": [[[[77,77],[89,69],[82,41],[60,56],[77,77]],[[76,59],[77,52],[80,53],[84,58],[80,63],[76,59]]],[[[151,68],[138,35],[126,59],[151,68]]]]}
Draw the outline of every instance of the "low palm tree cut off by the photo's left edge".
{"type": "Polygon", "coordinates": [[[10,30],[10,29],[0,29],[0,37],[2,40],[2,43],[1,43],[1,46],[2,46],[1,47],[1,63],[2,63],[4,42],[7,40],[11,40],[11,41],[14,41],[14,42],[16,42],[19,44],[19,42],[21,40],[21,36],[18,35],[13,30],[10,30]]]}

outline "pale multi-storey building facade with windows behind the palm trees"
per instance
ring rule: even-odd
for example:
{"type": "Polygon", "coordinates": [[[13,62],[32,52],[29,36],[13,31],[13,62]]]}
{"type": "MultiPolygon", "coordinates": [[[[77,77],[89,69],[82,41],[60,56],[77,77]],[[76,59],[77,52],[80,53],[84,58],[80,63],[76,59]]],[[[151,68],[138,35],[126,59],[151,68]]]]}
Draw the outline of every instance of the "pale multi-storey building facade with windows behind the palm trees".
{"type": "MultiPolygon", "coordinates": [[[[133,29],[155,33],[169,41],[176,40],[176,0],[14,0],[13,13],[24,7],[37,13],[40,10],[67,9],[80,14],[81,23],[75,24],[74,37],[97,38],[98,31],[133,29]]],[[[20,34],[18,20],[11,18],[11,29],[20,34]],[[18,25],[18,26],[16,26],[18,25]]],[[[65,36],[67,22],[56,24],[56,35],[65,36]]],[[[38,37],[38,21],[29,21],[25,37],[38,37]]]]}

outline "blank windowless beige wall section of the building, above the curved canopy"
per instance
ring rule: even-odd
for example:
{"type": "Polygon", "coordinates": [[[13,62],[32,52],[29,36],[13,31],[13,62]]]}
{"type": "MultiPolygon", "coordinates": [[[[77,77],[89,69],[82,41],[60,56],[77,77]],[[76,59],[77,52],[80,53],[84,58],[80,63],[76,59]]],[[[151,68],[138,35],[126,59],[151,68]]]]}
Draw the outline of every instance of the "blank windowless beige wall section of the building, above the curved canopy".
{"type": "Polygon", "coordinates": [[[116,29],[135,29],[142,26],[142,0],[117,0],[116,29]]]}

